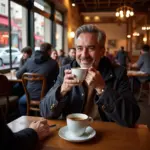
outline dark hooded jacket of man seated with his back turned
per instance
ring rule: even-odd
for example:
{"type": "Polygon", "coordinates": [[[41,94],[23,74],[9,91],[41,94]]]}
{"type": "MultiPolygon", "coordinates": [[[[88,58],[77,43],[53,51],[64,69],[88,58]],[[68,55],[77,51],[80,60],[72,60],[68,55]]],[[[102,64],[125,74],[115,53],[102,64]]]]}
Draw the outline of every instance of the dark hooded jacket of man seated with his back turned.
{"type": "MultiPolygon", "coordinates": [[[[16,76],[21,78],[25,72],[39,73],[45,76],[47,80],[47,89],[45,93],[53,86],[57,75],[59,73],[58,63],[45,55],[41,51],[36,51],[31,58],[29,58],[24,66],[19,69],[16,76]]],[[[32,99],[39,99],[41,93],[42,83],[37,81],[28,82],[27,89],[32,99]]]]}

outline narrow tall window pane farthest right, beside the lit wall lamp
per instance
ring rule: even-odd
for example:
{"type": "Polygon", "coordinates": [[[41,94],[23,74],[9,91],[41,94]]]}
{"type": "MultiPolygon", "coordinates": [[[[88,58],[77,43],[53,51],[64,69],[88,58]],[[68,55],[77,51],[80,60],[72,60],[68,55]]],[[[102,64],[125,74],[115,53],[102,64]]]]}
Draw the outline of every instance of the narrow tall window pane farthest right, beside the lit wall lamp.
{"type": "Polygon", "coordinates": [[[56,49],[62,49],[62,37],[63,37],[63,27],[60,24],[56,24],[56,49]]]}

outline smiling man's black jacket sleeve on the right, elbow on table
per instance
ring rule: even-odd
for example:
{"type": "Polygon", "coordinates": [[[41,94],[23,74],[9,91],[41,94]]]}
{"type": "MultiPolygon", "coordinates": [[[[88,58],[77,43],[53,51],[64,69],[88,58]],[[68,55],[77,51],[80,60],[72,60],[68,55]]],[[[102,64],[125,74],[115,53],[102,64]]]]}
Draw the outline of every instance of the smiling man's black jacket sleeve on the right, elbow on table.
{"type": "Polygon", "coordinates": [[[126,70],[121,74],[120,79],[116,82],[117,88],[106,87],[96,103],[108,120],[133,127],[140,116],[140,109],[131,93],[126,70]]]}

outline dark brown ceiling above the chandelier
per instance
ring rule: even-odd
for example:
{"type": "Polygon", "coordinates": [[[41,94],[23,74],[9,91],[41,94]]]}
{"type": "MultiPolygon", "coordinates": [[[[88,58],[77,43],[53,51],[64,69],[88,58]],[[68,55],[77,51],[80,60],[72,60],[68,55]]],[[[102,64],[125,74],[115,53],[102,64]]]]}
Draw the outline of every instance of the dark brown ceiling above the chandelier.
{"type": "Polygon", "coordinates": [[[150,11],[150,0],[72,0],[80,12],[115,11],[122,5],[129,5],[135,12],[150,11]]]}

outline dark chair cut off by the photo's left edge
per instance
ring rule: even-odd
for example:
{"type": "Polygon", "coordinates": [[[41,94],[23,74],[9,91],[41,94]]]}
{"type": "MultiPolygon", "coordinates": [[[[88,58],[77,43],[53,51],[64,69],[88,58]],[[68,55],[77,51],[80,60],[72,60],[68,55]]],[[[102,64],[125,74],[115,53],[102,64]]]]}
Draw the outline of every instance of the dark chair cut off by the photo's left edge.
{"type": "Polygon", "coordinates": [[[18,96],[10,96],[10,82],[7,77],[0,74],[0,109],[8,119],[9,112],[16,110],[18,96]]]}

